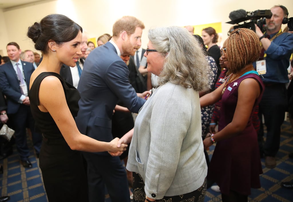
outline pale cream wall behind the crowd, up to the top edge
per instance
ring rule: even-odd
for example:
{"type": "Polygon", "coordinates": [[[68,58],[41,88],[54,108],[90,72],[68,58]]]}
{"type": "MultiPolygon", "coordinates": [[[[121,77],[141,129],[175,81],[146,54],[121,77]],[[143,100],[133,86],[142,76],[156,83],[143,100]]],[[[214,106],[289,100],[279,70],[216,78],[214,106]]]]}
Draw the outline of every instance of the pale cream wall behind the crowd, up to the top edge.
{"type": "Polygon", "coordinates": [[[0,10],[0,51],[6,55],[6,44],[17,42],[22,50],[34,49],[26,32],[28,26],[52,13],[60,13],[76,21],[88,32],[89,37],[98,37],[104,33],[112,35],[113,23],[125,15],[142,20],[145,30],[142,35],[142,47],[147,46],[147,31],[158,26],[200,25],[222,22],[223,38],[231,27],[229,13],[237,9],[254,11],[270,9],[274,5],[284,5],[293,16],[292,0],[55,0],[17,8],[10,11],[0,10]],[[272,2],[272,3],[269,3],[272,2]]]}

